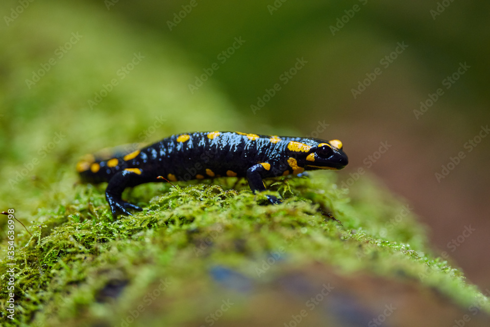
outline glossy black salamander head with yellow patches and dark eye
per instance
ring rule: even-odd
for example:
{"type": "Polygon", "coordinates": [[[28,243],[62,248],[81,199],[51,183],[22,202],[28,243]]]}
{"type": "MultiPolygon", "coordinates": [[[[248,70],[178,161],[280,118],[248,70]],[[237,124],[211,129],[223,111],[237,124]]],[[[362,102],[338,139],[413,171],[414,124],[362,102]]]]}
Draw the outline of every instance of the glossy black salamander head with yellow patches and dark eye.
{"type": "Polygon", "coordinates": [[[349,163],[347,155],[342,150],[342,142],[330,140],[328,142],[315,139],[305,161],[305,170],[315,169],[342,169],[349,163]]]}

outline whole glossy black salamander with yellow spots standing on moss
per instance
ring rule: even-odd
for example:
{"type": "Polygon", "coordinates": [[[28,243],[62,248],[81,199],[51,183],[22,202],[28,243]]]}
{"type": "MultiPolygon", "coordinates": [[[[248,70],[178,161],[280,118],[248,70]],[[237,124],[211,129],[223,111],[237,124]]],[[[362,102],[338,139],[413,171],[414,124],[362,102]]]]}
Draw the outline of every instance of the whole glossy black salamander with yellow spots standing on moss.
{"type": "MultiPolygon", "coordinates": [[[[342,169],[347,155],[339,140],[267,136],[240,132],[177,134],[146,148],[99,161],[93,155],[78,162],[85,182],[107,181],[105,198],[114,216],[127,209],[143,210],[123,201],[126,187],[147,182],[246,177],[252,192],[265,191],[263,178],[300,174],[305,170],[342,169]]],[[[267,196],[270,203],[280,203],[267,196]]]]}

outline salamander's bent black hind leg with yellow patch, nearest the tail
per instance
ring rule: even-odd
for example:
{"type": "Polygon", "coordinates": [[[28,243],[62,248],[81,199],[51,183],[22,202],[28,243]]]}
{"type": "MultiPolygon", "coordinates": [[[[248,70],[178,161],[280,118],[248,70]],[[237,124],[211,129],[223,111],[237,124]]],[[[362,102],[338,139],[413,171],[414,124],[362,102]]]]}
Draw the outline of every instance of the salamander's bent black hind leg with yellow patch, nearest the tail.
{"type": "Polygon", "coordinates": [[[143,210],[139,206],[121,199],[121,195],[126,187],[132,187],[147,182],[147,179],[142,173],[141,169],[129,168],[117,173],[109,180],[107,188],[105,189],[105,199],[109,203],[114,218],[117,217],[118,211],[121,211],[124,215],[132,216],[127,209],[143,210]]]}

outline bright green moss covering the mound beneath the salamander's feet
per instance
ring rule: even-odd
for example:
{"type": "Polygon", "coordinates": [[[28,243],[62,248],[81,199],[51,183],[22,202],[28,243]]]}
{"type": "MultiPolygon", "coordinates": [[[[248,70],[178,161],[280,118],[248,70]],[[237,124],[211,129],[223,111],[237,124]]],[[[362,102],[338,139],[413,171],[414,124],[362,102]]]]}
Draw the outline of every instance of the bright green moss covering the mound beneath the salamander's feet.
{"type": "MultiPolygon", "coordinates": [[[[163,311],[155,309],[145,319],[184,323],[212,310],[193,301],[196,293],[207,294],[213,303],[216,294],[224,298],[230,289],[246,290],[250,283],[277,277],[284,267],[310,262],[336,267],[343,274],[362,271],[417,280],[461,306],[471,305],[475,296],[484,299],[460,271],[433,257],[423,242],[413,249],[409,243],[373,237],[375,227],[363,229],[367,205],[363,199],[349,202],[335,191],[334,177],[319,172],[270,181],[269,193],[286,199],[281,205],[258,205],[264,195],[254,196],[236,178],[178,183],[176,188],[148,184],[127,194],[144,211],[116,220],[104,203],[103,185],[77,185],[73,198],[64,199],[66,204],[33,217],[32,237],[25,231],[17,236],[17,318],[25,326],[57,326],[64,321],[73,326],[96,321],[115,326],[138,305],[152,310],[151,297],[156,296],[151,292],[160,285],[162,290],[155,294],[165,297],[158,304],[163,311]],[[319,212],[320,207],[342,225],[319,212]],[[227,284],[217,290],[220,278],[227,284]]],[[[396,203],[386,191],[378,192],[396,203]]],[[[384,210],[396,212],[396,207],[384,210]]],[[[386,216],[369,218],[386,221],[386,216]]],[[[403,232],[394,238],[424,237],[413,215],[404,220],[403,232]]],[[[4,261],[0,269],[4,282],[4,261]]],[[[5,290],[1,297],[7,297],[5,290]]],[[[488,303],[484,309],[490,310],[488,303]]],[[[143,324],[141,320],[138,326],[143,324]]]]}

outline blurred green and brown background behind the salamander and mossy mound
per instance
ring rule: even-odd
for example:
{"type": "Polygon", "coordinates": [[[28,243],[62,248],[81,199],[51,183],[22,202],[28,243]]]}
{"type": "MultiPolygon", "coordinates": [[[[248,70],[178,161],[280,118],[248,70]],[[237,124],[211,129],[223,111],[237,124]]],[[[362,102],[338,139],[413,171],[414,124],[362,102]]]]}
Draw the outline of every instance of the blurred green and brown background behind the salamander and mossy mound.
{"type": "Polygon", "coordinates": [[[81,155],[104,147],[197,130],[318,134],[344,143],[339,184],[356,192],[360,168],[379,176],[430,227],[435,251],[490,287],[490,138],[465,147],[490,122],[488,1],[0,8],[0,195],[26,221],[69,192],[81,155]]]}

